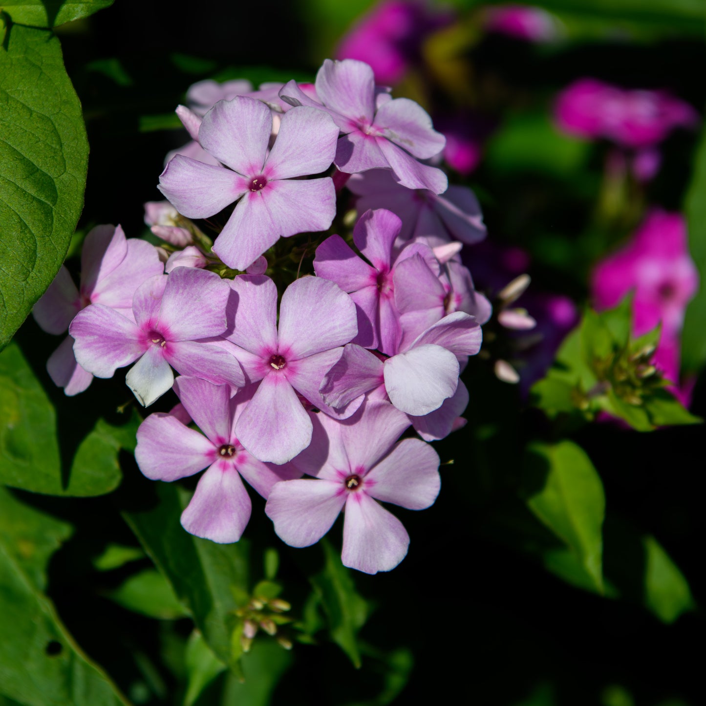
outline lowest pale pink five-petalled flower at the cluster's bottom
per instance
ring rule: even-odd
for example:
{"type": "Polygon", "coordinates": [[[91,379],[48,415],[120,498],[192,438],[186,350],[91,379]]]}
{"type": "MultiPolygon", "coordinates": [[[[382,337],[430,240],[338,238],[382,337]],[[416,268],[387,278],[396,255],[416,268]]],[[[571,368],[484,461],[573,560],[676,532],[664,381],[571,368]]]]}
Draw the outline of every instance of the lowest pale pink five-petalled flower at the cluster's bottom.
{"type": "Polygon", "coordinates": [[[388,402],[368,401],[345,422],[311,414],[311,445],[292,463],[316,479],[277,483],[265,505],[275,532],[290,546],[318,542],[343,508],[342,561],[374,574],[407,555],[409,535],[376,501],[409,510],[438,496],[439,458],[419,439],[395,444],[409,420],[388,402]]]}

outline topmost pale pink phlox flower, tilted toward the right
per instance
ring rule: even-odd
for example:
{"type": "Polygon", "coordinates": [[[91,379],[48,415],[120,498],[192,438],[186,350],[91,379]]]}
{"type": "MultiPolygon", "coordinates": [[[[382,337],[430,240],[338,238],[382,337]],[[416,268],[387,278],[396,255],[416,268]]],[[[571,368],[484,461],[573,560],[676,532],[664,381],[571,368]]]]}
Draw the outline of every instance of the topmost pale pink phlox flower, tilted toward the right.
{"type": "Polygon", "coordinates": [[[292,105],[323,109],[333,117],[341,131],[334,160],[340,171],[388,169],[409,189],[446,190],[448,179],[441,169],[419,161],[438,155],[445,144],[419,104],[376,90],[372,68],[355,59],[326,59],[315,85],[321,102],[307,96],[295,81],[282,88],[280,97],[292,105]]]}

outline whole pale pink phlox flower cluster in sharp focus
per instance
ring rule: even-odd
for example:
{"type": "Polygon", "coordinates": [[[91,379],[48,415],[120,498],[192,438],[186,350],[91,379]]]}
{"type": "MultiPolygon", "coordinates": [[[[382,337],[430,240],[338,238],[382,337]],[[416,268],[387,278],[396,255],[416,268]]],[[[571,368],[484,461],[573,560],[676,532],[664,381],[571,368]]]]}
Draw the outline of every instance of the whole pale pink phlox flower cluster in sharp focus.
{"type": "Polygon", "coordinates": [[[136,460],[162,481],[205,469],[181,516],[192,534],[239,540],[244,479],[287,544],[317,542],[343,510],[344,563],[390,570],[409,537],[380,503],[435,501],[429,441],[465,424],[459,376],[491,316],[460,253],[485,237],[478,202],[433,166],[429,115],[361,61],[327,60],[312,85],[201,82],[188,102],[193,143],[160,176],[168,201],[145,204],[162,245],[99,226],[80,289],[62,269],[35,307],[44,330],[68,328],[52,378],[75,395],[129,366],[145,407],[173,390],[136,460]],[[332,229],[349,203],[352,237],[332,229]],[[214,241],[192,220],[211,218],[214,241]],[[294,275],[277,241],[298,234],[316,246],[294,275]]]}

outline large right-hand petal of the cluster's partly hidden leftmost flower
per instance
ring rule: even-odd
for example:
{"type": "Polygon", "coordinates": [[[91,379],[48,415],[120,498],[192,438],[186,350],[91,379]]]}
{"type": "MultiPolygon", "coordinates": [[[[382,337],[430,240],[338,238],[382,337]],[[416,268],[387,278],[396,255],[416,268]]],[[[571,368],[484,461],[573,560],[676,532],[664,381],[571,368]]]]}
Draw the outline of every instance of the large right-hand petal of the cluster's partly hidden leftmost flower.
{"type": "Polygon", "coordinates": [[[90,301],[114,309],[130,309],[137,288],[145,280],[161,275],[162,272],[164,265],[160,262],[155,246],[144,240],[129,238],[124,260],[111,273],[106,276],[101,274],[90,295],[90,301]]]}

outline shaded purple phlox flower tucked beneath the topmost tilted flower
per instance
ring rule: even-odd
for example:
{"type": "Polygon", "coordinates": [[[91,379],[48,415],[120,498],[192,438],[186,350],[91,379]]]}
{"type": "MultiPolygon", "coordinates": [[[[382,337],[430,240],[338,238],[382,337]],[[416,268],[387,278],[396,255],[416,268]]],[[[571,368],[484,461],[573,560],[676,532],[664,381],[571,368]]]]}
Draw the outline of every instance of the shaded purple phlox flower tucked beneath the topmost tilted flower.
{"type": "Polygon", "coordinates": [[[437,196],[427,189],[406,189],[381,169],[354,174],[347,186],[359,197],[359,213],[387,208],[402,219],[398,248],[422,238],[436,247],[453,239],[475,244],[486,237],[478,199],[465,186],[449,186],[443,196],[437,196]]]}

